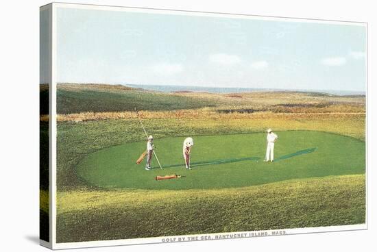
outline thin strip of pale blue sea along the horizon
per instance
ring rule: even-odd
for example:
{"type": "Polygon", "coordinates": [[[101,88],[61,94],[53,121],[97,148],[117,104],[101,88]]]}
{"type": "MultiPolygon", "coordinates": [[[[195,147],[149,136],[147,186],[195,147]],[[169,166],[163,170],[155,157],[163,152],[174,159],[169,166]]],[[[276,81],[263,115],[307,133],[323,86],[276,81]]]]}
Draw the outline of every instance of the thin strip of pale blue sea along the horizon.
{"type": "Polygon", "coordinates": [[[143,84],[125,84],[132,88],[143,88],[145,90],[159,92],[210,92],[210,93],[235,93],[235,92],[273,92],[273,91],[291,91],[291,92],[321,92],[329,95],[365,95],[365,91],[351,90],[300,90],[300,89],[278,89],[278,88],[223,88],[223,87],[206,87],[206,86],[173,86],[173,85],[143,85],[143,84]]]}

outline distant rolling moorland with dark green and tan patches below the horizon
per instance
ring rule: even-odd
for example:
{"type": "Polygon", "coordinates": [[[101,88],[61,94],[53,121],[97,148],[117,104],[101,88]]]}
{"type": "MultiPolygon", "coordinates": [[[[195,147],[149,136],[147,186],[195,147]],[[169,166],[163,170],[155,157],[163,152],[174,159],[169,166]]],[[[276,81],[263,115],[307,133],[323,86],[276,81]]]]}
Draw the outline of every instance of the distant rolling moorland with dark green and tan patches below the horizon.
{"type": "Polygon", "coordinates": [[[311,92],[164,93],[104,84],[58,84],[57,104],[58,114],[223,106],[271,112],[365,112],[365,96],[343,97],[311,92]]]}

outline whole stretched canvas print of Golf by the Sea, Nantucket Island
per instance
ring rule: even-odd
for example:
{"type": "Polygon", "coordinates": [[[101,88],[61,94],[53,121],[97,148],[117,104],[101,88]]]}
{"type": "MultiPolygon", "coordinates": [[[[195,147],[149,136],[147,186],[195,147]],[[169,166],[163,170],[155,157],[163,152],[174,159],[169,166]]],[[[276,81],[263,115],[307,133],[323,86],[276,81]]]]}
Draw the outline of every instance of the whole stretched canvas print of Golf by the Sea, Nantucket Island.
{"type": "Polygon", "coordinates": [[[366,23],[43,6],[41,244],[366,229],[366,43],[366,23]]]}

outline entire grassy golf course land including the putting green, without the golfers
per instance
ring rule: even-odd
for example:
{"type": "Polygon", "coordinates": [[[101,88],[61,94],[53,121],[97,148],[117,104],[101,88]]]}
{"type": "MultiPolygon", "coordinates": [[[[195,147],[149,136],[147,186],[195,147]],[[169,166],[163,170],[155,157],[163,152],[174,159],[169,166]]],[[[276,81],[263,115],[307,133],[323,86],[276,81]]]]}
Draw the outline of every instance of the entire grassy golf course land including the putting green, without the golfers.
{"type": "MultiPolygon", "coordinates": [[[[71,85],[58,87],[58,113],[130,111],[135,107],[176,110],[211,105],[238,109],[232,107],[237,104],[243,109],[243,105],[254,108],[255,99],[265,109],[291,101],[306,104],[317,98],[308,99],[300,94],[298,98],[297,94],[249,94],[239,102],[237,98],[221,95],[168,95],[71,85]]],[[[343,101],[341,97],[328,99],[343,101]]],[[[363,101],[360,99],[361,104],[363,101]]],[[[350,106],[349,111],[353,112],[354,107],[350,106]]],[[[337,109],[343,110],[343,105],[337,109]]],[[[145,142],[140,142],[145,136],[136,118],[58,122],[58,242],[365,223],[363,114],[267,113],[250,118],[217,114],[193,119],[165,118],[161,113],[159,118],[145,118],[143,122],[156,138],[162,164],[170,166],[164,171],[145,171],[144,164],[134,164],[145,149],[145,142]],[[268,127],[280,137],[274,164],[261,162],[265,134],[258,132],[268,127]],[[309,131],[287,131],[297,129],[309,131]],[[217,135],[238,138],[237,142],[242,144],[228,139],[228,145],[221,146],[217,135]],[[193,163],[197,166],[192,171],[180,168],[184,136],[195,136],[193,163]],[[248,139],[245,136],[250,136],[251,144],[245,142],[248,139]],[[219,153],[208,149],[213,142],[221,149],[219,153]],[[335,154],[335,158],[330,154],[335,154]],[[85,162],[87,166],[80,168],[85,162]],[[101,162],[113,165],[106,166],[109,169],[106,171],[99,165],[101,162]],[[187,177],[153,179],[155,175],[171,173],[187,177]],[[216,177],[217,174],[222,176],[216,177]]]]}

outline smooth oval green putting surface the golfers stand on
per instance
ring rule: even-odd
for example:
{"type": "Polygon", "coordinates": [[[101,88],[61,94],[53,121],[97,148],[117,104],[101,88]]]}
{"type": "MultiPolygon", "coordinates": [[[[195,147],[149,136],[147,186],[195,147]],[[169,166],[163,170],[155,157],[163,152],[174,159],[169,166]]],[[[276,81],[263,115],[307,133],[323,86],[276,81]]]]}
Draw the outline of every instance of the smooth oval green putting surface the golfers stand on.
{"type": "Polygon", "coordinates": [[[152,159],[136,164],[146,142],[132,142],[88,155],[77,166],[90,186],[134,189],[198,189],[254,186],[287,179],[365,173],[365,142],[320,131],[278,131],[275,162],[263,162],[266,134],[193,136],[191,170],[184,168],[185,137],[155,139],[162,170],[152,159]],[[156,181],[156,175],[182,175],[156,181]]]}

